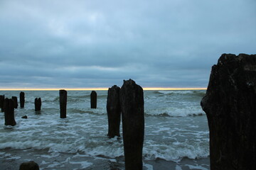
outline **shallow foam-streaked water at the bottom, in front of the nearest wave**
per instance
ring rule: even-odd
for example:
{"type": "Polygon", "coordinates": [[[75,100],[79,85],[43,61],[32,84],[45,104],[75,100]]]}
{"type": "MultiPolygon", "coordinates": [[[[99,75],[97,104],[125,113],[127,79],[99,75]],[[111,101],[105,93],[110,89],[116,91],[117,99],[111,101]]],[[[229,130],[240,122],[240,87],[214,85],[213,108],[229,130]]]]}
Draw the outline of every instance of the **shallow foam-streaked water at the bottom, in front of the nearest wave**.
{"type": "MultiPolygon", "coordinates": [[[[41,170],[79,170],[79,169],[124,169],[124,157],[107,158],[82,153],[48,152],[48,149],[0,149],[0,167],[2,170],[18,169],[22,162],[33,160],[41,170]]],[[[188,159],[179,162],[164,159],[143,160],[144,170],[161,169],[210,169],[210,158],[188,159]]]]}

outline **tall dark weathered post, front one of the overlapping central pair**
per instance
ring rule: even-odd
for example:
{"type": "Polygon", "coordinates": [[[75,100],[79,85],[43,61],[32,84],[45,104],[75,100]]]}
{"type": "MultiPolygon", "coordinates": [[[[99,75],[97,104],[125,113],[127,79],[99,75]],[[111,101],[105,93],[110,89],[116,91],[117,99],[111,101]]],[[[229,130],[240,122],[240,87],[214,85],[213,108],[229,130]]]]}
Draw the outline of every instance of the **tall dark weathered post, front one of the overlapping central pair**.
{"type": "Polygon", "coordinates": [[[129,79],[120,90],[124,161],[126,170],[142,170],[144,142],[144,95],[141,86],[129,79]]]}

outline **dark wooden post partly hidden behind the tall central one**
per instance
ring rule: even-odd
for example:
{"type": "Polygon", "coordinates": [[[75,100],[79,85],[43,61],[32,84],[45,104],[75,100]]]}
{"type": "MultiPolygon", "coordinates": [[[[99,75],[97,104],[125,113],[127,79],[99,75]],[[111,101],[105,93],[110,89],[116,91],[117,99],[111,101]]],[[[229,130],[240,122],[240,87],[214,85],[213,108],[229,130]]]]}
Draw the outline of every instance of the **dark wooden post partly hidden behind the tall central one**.
{"type": "Polygon", "coordinates": [[[121,106],[119,98],[119,86],[112,86],[107,91],[107,119],[108,119],[108,133],[107,136],[112,138],[120,136],[120,120],[121,120],[121,106]]]}

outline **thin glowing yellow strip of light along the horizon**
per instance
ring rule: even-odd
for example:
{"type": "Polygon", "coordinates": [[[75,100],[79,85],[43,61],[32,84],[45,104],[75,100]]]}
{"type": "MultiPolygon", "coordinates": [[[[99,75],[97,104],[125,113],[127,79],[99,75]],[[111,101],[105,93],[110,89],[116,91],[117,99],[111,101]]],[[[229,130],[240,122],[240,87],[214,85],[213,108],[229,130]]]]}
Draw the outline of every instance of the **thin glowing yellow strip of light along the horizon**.
{"type": "MultiPolygon", "coordinates": [[[[0,88],[0,91],[59,91],[60,89],[65,89],[67,91],[107,91],[109,88],[99,87],[99,88],[0,88]]],[[[206,90],[207,88],[193,88],[193,87],[144,87],[145,91],[158,91],[158,90],[206,90]]]]}

